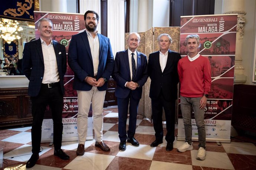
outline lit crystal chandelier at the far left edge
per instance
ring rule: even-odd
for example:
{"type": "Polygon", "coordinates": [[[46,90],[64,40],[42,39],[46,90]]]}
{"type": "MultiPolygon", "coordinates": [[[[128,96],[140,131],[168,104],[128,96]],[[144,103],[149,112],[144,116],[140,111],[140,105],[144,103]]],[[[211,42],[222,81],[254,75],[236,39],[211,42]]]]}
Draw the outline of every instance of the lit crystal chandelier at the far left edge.
{"type": "Polygon", "coordinates": [[[3,38],[5,41],[7,41],[8,44],[10,44],[13,40],[19,40],[20,36],[17,35],[17,31],[22,31],[22,27],[18,27],[19,23],[15,20],[9,20],[6,18],[2,18],[2,21],[0,22],[0,33],[1,38],[3,38]]]}

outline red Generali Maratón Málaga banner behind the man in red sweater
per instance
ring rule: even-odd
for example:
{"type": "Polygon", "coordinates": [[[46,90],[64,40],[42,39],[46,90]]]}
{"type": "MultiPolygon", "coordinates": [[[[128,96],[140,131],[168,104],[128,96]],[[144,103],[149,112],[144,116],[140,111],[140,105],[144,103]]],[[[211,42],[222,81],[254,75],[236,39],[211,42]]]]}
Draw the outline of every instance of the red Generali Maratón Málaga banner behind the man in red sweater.
{"type": "MultiPolygon", "coordinates": [[[[181,17],[181,57],[186,57],[188,54],[186,36],[198,34],[200,36],[198,52],[208,58],[211,65],[211,91],[204,108],[206,141],[208,142],[230,142],[236,27],[237,14],[181,17]]],[[[198,132],[193,110],[191,110],[191,119],[192,140],[197,141],[198,132]]],[[[177,139],[185,140],[180,98],[177,139]]]]}

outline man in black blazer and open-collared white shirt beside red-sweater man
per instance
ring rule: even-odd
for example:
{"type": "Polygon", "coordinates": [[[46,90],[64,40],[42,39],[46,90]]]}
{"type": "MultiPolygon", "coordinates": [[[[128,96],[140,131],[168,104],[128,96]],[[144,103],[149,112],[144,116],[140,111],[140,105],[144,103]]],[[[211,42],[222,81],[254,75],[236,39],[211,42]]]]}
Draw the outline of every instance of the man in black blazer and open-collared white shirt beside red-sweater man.
{"type": "Polygon", "coordinates": [[[163,143],[163,107],[166,119],[167,141],[166,150],[173,150],[175,130],[175,100],[177,99],[177,84],[179,82],[177,64],[180,54],[169,50],[172,39],[168,34],[160,34],[157,38],[159,51],[153,52],[148,59],[148,75],[151,78],[150,98],[152,117],[155,130],[155,141],[151,147],[163,143]]]}

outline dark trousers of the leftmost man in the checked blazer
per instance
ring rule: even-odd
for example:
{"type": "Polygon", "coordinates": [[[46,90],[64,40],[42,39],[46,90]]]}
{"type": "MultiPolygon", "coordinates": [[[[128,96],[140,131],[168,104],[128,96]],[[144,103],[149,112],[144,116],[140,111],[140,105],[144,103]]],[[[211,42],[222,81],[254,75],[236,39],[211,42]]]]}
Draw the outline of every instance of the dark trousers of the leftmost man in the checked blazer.
{"type": "Polygon", "coordinates": [[[32,103],[32,153],[40,152],[40,143],[42,135],[42,122],[47,105],[52,110],[53,119],[53,144],[55,149],[60,149],[62,142],[62,109],[63,109],[63,94],[60,85],[48,88],[42,86],[39,95],[31,97],[32,103]]]}

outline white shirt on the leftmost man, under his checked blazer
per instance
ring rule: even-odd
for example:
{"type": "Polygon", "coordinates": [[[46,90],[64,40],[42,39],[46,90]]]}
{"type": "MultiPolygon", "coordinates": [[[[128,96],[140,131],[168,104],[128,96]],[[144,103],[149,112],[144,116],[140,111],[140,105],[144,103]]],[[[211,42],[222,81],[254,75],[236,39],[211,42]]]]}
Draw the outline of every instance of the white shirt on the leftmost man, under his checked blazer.
{"type": "Polygon", "coordinates": [[[43,62],[45,65],[45,72],[43,74],[43,84],[59,82],[59,72],[57,67],[57,59],[53,48],[53,43],[47,45],[45,41],[40,38],[43,51],[43,62]]]}

